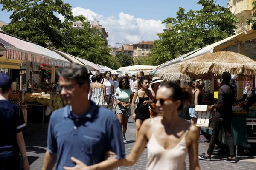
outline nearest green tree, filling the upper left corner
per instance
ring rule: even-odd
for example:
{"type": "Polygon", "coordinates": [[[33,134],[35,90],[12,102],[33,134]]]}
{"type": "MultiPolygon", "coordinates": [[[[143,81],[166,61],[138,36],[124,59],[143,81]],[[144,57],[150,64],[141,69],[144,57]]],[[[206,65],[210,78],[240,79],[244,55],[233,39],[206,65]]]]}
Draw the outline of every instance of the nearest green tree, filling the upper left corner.
{"type": "Polygon", "coordinates": [[[13,11],[12,20],[3,26],[3,31],[41,46],[61,43],[63,23],[56,14],[73,20],[71,6],[62,0],[0,0],[0,3],[2,10],[13,11]]]}

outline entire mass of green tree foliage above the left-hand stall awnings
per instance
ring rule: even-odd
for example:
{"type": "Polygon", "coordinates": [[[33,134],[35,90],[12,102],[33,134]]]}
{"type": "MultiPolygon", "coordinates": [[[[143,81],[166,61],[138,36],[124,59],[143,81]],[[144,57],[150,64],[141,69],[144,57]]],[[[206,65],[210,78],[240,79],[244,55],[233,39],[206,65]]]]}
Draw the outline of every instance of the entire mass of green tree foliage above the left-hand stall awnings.
{"type": "Polygon", "coordinates": [[[3,31],[97,64],[108,67],[117,64],[111,57],[111,49],[105,44],[102,33],[83,22],[85,17],[73,17],[71,6],[62,0],[0,0],[0,3],[3,5],[2,10],[13,11],[10,16],[12,20],[2,27],[3,31]],[[62,22],[57,14],[61,14],[65,20],[62,22]],[[74,29],[74,21],[82,21],[84,27],[74,29]]]}

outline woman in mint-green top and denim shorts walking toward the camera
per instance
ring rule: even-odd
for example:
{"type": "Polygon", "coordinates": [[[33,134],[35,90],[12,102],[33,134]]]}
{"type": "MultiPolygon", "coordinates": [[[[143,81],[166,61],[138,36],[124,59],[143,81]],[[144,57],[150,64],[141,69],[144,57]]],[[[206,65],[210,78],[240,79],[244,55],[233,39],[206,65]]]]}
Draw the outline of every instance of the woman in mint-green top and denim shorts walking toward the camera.
{"type": "Polygon", "coordinates": [[[131,115],[130,101],[132,100],[132,94],[128,77],[122,77],[119,80],[119,86],[116,89],[115,101],[117,103],[116,116],[122,126],[124,142],[126,142],[125,133],[127,130],[127,122],[131,115]]]}

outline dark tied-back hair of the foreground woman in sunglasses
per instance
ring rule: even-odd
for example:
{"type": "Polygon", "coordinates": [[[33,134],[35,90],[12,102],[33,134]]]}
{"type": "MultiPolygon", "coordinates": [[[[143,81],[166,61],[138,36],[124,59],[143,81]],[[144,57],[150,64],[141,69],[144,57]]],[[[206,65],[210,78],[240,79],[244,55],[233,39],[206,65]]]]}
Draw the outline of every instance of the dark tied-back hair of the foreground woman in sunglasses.
{"type": "Polygon", "coordinates": [[[170,90],[172,91],[172,96],[170,96],[170,98],[174,99],[175,101],[181,101],[178,111],[183,109],[186,105],[191,104],[192,94],[191,89],[189,87],[181,88],[174,82],[164,82],[163,85],[161,85],[161,87],[170,88],[170,90]]]}

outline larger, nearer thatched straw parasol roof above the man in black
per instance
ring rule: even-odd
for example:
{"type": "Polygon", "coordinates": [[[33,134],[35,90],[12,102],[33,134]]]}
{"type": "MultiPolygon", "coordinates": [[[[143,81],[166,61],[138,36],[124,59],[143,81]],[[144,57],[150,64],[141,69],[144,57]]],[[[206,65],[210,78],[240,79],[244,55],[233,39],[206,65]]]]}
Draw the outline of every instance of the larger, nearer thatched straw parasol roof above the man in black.
{"type": "Polygon", "coordinates": [[[221,75],[224,71],[238,75],[239,80],[251,79],[256,75],[256,61],[239,53],[218,51],[189,59],[180,65],[181,73],[202,79],[221,75]]]}

